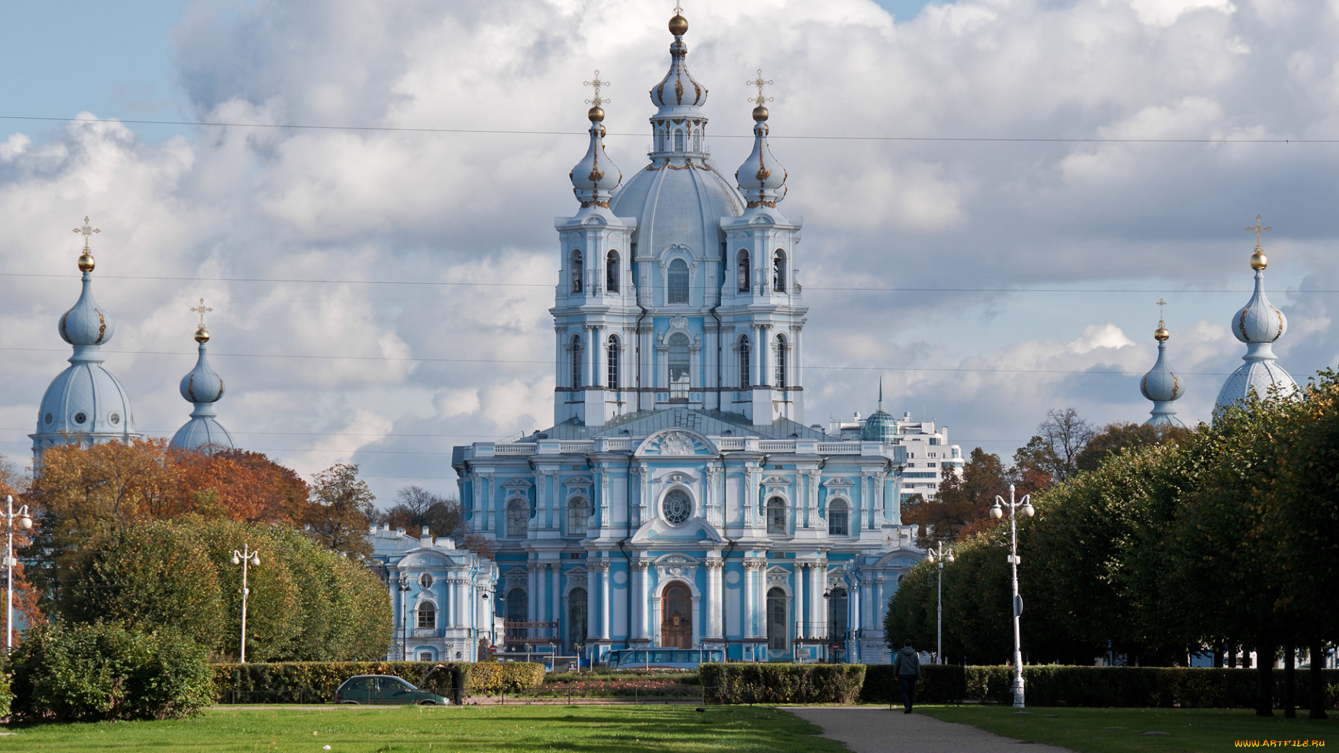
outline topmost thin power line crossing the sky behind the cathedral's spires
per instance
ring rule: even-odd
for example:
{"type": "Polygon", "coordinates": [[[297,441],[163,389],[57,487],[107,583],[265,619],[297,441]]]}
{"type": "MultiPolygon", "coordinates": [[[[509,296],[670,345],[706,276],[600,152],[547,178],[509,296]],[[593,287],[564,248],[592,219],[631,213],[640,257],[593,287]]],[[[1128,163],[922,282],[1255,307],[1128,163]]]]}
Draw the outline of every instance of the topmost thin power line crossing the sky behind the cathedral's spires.
{"type": "MultiPolygon", "coordinates": [[[[545,131],[520,129],[431,129],[404,126],[341,126],[303,123],[230,123],[221,121],[131,121],[123,118],[43,118],[36,115],[0,115],[5,121],[44,121],[56,123],[131,123],[142,126],[210,126],[240,129],[317,130],[317,131],[383,131],[428,134],[499,134],[499,135],[589,135],[586,131],[545,131]]],[[[645,133],[607,133],[607,137],[647,138],[645,133]]],[[[716,134],[712,138],[754,138],[753,134],[716,134]]],[[[924,137],[924,135],[769,135],[793,141],[889,141],[889,142],[979,142],[979,143],[1339,143],[1334,138],[1060,138],[1060,137],[924,137]]]]}

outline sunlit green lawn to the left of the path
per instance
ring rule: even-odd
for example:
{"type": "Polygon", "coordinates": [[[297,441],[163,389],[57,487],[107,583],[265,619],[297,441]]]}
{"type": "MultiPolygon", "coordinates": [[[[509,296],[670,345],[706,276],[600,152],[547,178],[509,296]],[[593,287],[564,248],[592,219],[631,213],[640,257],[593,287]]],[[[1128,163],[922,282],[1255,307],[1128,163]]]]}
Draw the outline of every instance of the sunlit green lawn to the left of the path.
{"type": "Polygon", "coordinates": [[[582,753],[840,753],[821,730],[767,707],[490,706],[242,707],[169,722],[8,728],[0,750],[447,752],[580,750],[582,753]],[[313,734],[315,733],[315,734],[313,734]]]}

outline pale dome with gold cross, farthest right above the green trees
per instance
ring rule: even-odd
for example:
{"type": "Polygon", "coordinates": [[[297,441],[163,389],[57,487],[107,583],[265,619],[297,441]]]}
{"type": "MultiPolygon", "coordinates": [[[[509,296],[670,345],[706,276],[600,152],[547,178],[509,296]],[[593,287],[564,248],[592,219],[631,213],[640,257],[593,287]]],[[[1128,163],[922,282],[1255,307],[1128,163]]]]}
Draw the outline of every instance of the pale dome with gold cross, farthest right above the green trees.
{"type": "Polygon", "coordinates": [[[1272,390],[1283,395],[1292,395],[1297,391],[1297,383],[1275,363],[1273,343],[1288,331],[1288,318],[1275,308],[1264,295],[1264,269],[1267,259],[1260,245],[1259,233],[1269,230],[1259,222],[1247,228],[1256,233],[1255,252],[1251,255],[1251,268],[1255,269],[1255,292],[1236,316],[1232,318],[1232,334],[1247,343],[1247,354],[1241,356],[1245,363],[1237,367],[1218,391],[1216,405],[1225,407],[1236,401],[1247,398],[1252,391],[1259,397],[1267,397],[1272,390]]]}

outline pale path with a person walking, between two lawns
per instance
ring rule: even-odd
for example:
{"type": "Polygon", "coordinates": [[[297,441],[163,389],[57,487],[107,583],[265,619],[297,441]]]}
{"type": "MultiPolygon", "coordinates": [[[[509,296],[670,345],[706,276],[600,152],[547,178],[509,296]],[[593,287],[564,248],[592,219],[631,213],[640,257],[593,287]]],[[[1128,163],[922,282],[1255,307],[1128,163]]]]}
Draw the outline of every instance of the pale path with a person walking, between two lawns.
{"type": "Polygon", "coordinates": [[[854,753],[1073,753],[1069,748],[1024,744],[969,725],[941,722],[901,709],[860,706],[786,707],[806,722],[823,728],[822,737],[846,744],[854,753]]]}

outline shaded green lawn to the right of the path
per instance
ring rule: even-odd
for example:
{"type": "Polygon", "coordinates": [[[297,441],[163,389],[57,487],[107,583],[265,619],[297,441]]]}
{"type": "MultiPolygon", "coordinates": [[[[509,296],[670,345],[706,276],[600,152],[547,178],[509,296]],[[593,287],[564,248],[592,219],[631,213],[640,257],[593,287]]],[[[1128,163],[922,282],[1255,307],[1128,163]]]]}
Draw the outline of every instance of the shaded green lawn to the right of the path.
{"type": "MultiPolygon", "coordinates": [[[[1227,750],[1236,740],[1324,740],[1339,745],[1339,721],[1260,718],[1249,709],[1027,709],[1008,706],[917,706],[945,722],[961,722],[1027,742],[1048,742],[1079,753],[1126,750],[1227,750]],[[1052,715],[1054,714],[1054,715],[1052,715]],[[1166,736],[1145,736],[1165,732],[1166,736]]],[[[1306,711],[1299,714],[1306,717],[1306,711]]],[[[1331,711],[1331,715],[1335,715],[1331,711]]]]}

